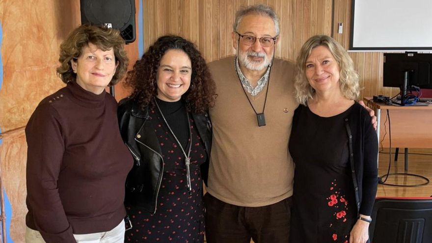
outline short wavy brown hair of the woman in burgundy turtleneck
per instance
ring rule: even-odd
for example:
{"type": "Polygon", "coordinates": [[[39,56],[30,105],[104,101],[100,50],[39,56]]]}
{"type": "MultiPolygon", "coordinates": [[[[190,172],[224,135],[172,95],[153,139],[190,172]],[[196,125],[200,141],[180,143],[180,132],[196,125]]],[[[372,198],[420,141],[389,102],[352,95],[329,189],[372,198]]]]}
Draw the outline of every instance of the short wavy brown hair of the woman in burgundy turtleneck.
{"type": "Polygon", "coordinates": [[[109,49],[114,51],[115,62],[118,65],[108,86],[116,84],[125,76],[128,69],[129,58],[124,49],[125,41],[117,29],[90,24],[74,29],[61,43],[58,58],[60,66],[57,68],[57,75],[64,83],[75,81],[77,74],[72,70],[71,60],[76,60],[81,55],[82,48],[88,46],[89,43],[102,51],[109,49]]]}

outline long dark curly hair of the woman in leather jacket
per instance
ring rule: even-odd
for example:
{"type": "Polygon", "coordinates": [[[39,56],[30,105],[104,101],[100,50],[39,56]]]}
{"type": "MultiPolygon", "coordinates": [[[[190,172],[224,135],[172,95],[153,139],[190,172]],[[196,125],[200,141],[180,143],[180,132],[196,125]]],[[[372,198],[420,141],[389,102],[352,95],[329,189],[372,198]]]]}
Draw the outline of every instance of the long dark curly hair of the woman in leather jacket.
{"type": "Polygon", "coordinates": [[[182,96],[189,111],[204,113],[214,106],[216,85],[206,61],[193,43],[176,35],[159,37],[149,47],[134,69],[129,71],[125,85],[132,88],[131,96],[142,108],[153,106],[154,97],[158,95],[157,73],[162,56],[168,50],[181,50],[188,54],[192,64],[192,76],[188,91],[182,96]]]}

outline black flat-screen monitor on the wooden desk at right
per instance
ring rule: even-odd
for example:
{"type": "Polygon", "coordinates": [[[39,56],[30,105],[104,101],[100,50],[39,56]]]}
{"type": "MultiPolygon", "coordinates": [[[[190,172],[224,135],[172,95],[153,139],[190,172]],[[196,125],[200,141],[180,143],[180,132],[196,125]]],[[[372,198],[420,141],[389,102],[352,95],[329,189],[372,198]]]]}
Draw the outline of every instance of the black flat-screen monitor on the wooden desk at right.
{"type": "Polygon", "coordinates": [[[408,72],[408,86],[432,88],[431,53],[384,53],[383,86],[401,87],[405,72],[408,72]]]}

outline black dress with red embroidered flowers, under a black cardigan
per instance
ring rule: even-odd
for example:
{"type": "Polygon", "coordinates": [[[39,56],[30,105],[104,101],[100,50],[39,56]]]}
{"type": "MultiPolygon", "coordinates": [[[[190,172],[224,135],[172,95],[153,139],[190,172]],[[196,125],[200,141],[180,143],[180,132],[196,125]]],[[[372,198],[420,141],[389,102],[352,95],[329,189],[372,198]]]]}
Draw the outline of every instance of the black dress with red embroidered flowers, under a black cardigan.
{"type": "Polygon", "coordinates": [[[291,243],[349,243],[357,218],[344,121],[351,108],[332,117],[297,108],[289,146],[296,164],[291,243]]]}

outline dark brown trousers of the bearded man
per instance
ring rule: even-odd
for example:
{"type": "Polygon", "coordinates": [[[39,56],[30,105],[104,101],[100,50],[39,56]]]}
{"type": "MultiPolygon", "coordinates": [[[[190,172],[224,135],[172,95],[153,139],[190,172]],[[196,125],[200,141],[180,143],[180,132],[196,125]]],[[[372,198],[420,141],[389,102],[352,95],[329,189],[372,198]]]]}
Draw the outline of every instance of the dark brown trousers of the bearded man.
{"type": "Polygon", "coordinates": [[[224,203],[206,193],[207,243],[288,243],[292,197],[262,207],[224,203]]]}

